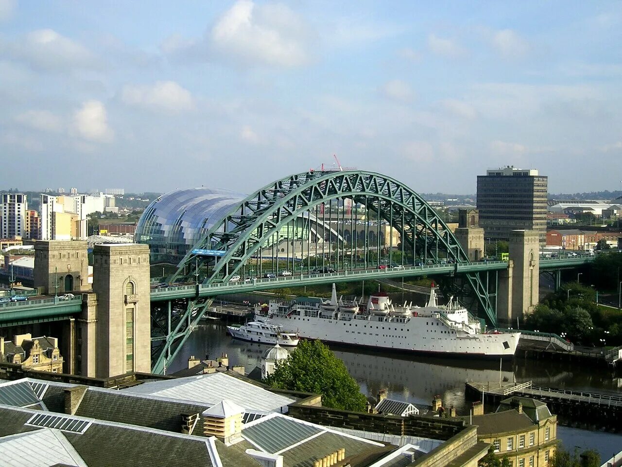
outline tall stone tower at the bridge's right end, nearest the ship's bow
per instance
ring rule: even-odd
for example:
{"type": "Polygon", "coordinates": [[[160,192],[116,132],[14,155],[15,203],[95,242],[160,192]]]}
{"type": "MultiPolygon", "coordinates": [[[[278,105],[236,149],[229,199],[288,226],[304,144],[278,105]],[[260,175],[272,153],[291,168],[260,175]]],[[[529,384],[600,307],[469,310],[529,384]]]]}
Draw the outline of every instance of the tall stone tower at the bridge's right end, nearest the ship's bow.
{"type": "Polygon", "coordinates": [[[512,322],[534,311],[540,286],[540,237],[535,230],[513,230],[509,235],[512,271],[512,322]]]}

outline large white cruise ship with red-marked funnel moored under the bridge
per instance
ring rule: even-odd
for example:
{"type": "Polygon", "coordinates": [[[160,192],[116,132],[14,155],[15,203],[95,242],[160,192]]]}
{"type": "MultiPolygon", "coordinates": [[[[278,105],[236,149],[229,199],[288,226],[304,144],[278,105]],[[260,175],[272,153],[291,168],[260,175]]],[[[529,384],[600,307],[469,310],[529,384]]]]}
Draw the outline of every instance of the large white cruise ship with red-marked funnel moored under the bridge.
{"type": "MultiPolygon", "coordinates": [[[[453,298],[438,305],[432,286],[426,306],[394,306],[386,293],[369,297],[356,308],[337,300],[335,285],[330,302],[256,308],[256,319],[279,324],[300,337],[325,342],[469,358],[511,358],[521,333],[486,332],[453,298]]],[[[282,344],[281,344],[282,345],[282,344]]]]}

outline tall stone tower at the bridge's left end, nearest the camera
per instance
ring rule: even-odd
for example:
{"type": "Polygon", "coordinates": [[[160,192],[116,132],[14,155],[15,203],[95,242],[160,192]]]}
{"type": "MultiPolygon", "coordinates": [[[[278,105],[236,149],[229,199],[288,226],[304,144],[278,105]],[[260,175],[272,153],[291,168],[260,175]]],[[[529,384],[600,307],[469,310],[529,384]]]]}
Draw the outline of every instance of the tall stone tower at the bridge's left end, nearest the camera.
{"type": "Polygon", "coordinates": [[[96,377],[151,372],[149,246],[95,245],[96,377]]]}

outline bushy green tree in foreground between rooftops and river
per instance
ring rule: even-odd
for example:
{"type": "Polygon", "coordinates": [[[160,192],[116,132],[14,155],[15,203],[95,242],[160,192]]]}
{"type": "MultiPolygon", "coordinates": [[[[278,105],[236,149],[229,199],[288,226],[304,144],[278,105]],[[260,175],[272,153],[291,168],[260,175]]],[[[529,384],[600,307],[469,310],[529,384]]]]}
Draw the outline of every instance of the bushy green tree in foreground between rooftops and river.
{"type": "Polygon", "coordinates": [[[320,341],[302,341],[264,380],[275,389],[322,394],[325,407],[364,412],[367,400],[345,364],[320,341]]]}

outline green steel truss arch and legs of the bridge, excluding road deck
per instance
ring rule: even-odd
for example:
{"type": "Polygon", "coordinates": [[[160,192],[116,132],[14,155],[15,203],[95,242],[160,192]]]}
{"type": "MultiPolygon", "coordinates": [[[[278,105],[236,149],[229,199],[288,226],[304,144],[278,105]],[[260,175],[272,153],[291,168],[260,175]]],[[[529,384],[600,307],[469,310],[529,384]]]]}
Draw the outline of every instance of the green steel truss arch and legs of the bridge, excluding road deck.
{"type": "MultiPolygon", "coordinates": [[[[320,205],[332,205],[344,199],[351,199],[354,205],[365,205],[378,219],[392,225],[402,239],[402,252],[412,253],[413,258],[437,263],[441,253],[443,258],[452,258],[456,263],[468,262],[460,243],[439,214],[405,184],[365,171],[310,171],[279,179],[246,197],[194,247],[219,250],[224,252],[223,256],[216,259],[191,251],[179,263],[170,282],[196,280],[208,284],[227,281],[234,275],[244,276],[246,263],[270,238],[274,235],[278,238],[282,227],[304,213],[309,216],[320,205]]],[[[480,275],[468,273],[462,279],[480,310],[496,326],[494,306],[480,275]]],[[[158,320],[157,326],[167,335],[160,338],[163,345],[154,359],[154,372],[162,372],[166,362],[174,359],[210,304],[211,300],[205,298],[188,300],[185,312],[178,313],[177,319],[169,319],[166,329],[162,320],[158,320]]],[[[172,318],[170,313],[169,318],[172,318]]]]}

